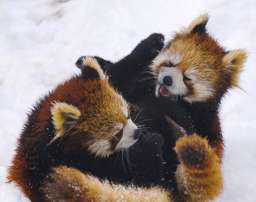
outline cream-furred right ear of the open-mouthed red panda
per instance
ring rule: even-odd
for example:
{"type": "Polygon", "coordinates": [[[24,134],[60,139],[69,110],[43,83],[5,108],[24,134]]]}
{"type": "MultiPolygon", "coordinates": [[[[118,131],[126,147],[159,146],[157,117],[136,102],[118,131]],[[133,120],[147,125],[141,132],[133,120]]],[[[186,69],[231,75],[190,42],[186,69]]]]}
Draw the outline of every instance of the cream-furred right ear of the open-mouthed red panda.
{"type": "Polygon", "coordinates": [[[231,87],[239,87],[239,75],[243,70],[246,58],[247,52],[241,49],[230,51],[223,57],[222,62],[225,72],[230,76],[231,87]]]}

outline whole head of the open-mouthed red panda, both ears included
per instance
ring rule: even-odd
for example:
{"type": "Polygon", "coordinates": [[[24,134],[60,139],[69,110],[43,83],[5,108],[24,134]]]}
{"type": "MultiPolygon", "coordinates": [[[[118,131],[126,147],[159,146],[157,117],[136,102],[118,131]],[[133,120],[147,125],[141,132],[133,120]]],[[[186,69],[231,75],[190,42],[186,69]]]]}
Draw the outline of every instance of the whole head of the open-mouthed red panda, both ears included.
{"type": "Polygon", "coordinates": [[[157,96],[204,102],[221,97],[229,88],[239,87],[247,53],[225,51],[208,34],[208,19],[207,14],[202,14],[188,28],[175,33],[153,60],[151,71],[157,77],[157,96]]]}

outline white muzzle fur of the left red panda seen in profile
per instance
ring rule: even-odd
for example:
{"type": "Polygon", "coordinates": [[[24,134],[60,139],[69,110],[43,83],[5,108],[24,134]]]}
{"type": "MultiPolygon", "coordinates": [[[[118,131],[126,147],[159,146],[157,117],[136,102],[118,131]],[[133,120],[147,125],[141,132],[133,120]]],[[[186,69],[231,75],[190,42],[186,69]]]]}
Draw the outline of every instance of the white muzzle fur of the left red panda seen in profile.
{"type": "Polygon", "coordinates": [[[134,131],[137,130],[137,126],[131,119],[127,119],[127,123],[123,128],[122,138],[116,145],[116,150],[121,148],[128,148],[131,147],[137,139],[134,139],[134,131]]]}

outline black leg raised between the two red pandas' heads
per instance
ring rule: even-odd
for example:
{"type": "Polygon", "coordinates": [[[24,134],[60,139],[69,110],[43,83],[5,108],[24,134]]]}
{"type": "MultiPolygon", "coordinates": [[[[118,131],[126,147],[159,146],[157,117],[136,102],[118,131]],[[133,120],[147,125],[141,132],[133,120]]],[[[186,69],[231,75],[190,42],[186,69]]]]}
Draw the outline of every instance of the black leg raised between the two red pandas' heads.
{"type": "Polygon", "coordinates": [[[131,101],[131,95],[137,87],[141,73],[157,56],[163,45],[163,34],[151,34],[142,40],[131,54],[108,66],[107,74],[111,83],[127,100],[131,101]]]}

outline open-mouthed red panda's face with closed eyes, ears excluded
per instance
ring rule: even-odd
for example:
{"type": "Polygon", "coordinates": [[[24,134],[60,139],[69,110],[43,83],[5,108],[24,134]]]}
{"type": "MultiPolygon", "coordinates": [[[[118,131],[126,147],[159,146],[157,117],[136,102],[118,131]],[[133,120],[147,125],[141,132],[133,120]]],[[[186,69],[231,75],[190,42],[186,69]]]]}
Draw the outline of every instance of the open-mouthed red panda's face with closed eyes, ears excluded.
{"type": "Polygon", "coordinates": [[[220,53],[215,54],[204,50],[198,40],[198,36],[173,40],[154,60],[157,96],[180,96],[187,102],[205,101],[215,96],[224,51],[217,50],[220,53]]]}

